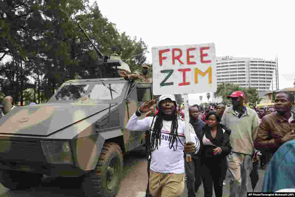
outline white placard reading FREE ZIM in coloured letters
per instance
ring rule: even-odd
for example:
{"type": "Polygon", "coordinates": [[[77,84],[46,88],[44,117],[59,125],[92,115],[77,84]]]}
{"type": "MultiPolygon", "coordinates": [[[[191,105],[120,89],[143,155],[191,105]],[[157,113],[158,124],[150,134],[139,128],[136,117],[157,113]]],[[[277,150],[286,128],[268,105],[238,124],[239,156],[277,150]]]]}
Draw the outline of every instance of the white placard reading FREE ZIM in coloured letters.
{"type": "Polygon", "coordinates": [[[215,44],[152,48],[153,94],[216,92],[215,44]]]}

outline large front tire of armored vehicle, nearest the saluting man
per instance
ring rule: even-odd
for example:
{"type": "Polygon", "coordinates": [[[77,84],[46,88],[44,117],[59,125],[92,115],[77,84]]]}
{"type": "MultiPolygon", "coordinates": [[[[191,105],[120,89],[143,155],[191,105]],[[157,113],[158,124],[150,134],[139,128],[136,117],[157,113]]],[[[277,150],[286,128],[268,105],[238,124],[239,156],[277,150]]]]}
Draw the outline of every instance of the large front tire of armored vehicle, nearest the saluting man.
{"type": "Polygon", "coordinates": [[[104,144],[95,170],[84,175],[82,190],[87,197],[114,197],[119,191],[123,154],[116,143],[104,144]]]}

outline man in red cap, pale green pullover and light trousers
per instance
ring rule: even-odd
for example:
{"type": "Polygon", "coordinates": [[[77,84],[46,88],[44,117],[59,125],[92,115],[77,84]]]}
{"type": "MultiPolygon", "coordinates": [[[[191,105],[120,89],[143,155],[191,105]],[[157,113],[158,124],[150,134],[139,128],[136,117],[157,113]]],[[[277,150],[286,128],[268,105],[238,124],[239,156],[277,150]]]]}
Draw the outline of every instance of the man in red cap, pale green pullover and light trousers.
{"type": "Polygon", "coordinates": [[[249,178],[259,118],[255,110],[243,105],[244,92],[235,91],[228,98],[232,106],[225,109],[220,123],[232,130],[232,151],[227,156],[230,197],[246,197],[247,191],[251,190],[249,178]]]}

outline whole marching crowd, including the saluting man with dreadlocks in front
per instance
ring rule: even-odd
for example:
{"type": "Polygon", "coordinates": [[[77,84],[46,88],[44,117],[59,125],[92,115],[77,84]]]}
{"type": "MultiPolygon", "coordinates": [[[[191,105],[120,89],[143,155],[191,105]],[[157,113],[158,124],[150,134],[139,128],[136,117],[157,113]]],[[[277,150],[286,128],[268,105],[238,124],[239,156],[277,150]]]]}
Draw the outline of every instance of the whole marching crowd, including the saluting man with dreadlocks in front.
{"type": "MultiPolygon", "coordinates": [[[[202,183],[205,197],[212,196],[213,188],[215,196],[221,197],[226,176],[230,178],[230,197],[247,196],[252,191],[250,172],[255,153],[260,153],[260,165],[265,169],[267,163],[272,164],[271,158],[279,147],[295,139],[291,93],[279,92],[275,108],[246,107],[245,94],[240,91],[228,99],[232,103],[229,107],[219,103],[205,106],[204,112],[199,105],[189,107],[189,131],[194,139],[190,141],[184,132],[186,117],[173,95],[155,97],[138,108],[127,128],[149,133],[146,196],[180,196],[185,174],[189,197],[196,196],[202,183]],[[146,118],[138,120],[145,113],[146,118]],[[192,155],[191,161],[186,161],[186,154],[192,155]]],[[[278,174],[273,168],[269,173],[278,174]]],[[[269,173],[263,185],[263,191],[268,192],[269,184],[275,185],[269,173]]],[[[275,191],[286,188],[276,187],[275,191]]]]}

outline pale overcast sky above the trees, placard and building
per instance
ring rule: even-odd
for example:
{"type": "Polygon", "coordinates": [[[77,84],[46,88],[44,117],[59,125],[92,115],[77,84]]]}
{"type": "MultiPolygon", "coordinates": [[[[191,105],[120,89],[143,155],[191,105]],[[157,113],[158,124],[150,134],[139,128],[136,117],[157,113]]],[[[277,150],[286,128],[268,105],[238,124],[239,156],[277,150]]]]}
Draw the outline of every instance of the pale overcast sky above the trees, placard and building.
{"type": "MultiPolygon", "coordinates": [[[[120,32],[142,38],[149,51],[214,42],[216,56],[274,60],[278,55],[279,88],[293,87],[293,1],[100,0],[98,6],[120,32]]],[[[151,52],[147,60],[152,62],[151,52]]]]}

